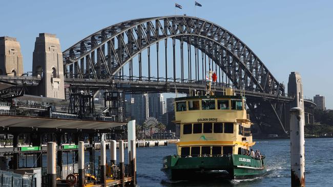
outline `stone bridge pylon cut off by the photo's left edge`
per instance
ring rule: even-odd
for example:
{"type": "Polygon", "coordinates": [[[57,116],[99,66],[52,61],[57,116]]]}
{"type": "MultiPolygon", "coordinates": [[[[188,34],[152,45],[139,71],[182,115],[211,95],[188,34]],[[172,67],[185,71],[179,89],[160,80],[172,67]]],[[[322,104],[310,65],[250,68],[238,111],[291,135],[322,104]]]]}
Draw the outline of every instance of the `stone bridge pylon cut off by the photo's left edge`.
{"type": "Polygon", "coordinates": [[[0,75],[21,76],[23,57],[16,38],[0,37],[0,75]]]}

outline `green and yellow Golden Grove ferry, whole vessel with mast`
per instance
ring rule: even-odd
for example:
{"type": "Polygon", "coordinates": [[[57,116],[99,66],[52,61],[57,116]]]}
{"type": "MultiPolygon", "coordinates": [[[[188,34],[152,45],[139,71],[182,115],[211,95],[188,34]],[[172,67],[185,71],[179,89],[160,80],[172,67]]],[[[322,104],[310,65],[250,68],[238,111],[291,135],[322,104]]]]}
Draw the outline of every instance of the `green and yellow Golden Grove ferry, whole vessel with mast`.
{"type": "Polygon", "coordinates": [[[165,156],[161,169],[170,180],[232,180],[266,173],[265,156],[249,156],[255,145],[252,123],[245,97],[232,88],[215,96],[208,81],[205,95],[176,98],[174,122],[180,125],[177,155],[165,156]]]}

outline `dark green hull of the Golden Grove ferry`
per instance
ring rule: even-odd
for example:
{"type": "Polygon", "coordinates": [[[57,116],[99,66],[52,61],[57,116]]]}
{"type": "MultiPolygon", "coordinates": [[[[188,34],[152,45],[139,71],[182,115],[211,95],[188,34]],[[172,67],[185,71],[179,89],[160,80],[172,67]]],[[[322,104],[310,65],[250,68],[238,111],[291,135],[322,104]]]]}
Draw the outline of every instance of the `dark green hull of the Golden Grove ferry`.
{"type": "Polygon", "coordinates": [[[161,169],[170,180],[245,179],[266,173],[265,160],[251,156],[224,157],[166,156],[161,169]]]}

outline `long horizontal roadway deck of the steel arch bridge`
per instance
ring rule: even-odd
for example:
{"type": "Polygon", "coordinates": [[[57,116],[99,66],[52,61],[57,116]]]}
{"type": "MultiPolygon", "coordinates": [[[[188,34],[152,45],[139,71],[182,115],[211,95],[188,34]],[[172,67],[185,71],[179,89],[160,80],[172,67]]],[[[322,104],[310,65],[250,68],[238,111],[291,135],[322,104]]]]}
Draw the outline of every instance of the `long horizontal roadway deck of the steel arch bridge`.
{"type": "MultiPolygon", "coordinates": [[[[6,82],[14,83],[18,86],[37,86],[40,77],[33,76],[0,76],[0,79],[6,82]]],[[[178,93],[189,93],[189,90],[204,91],[204,83],[194,82],[157,82],[157,81],[139,81],[139,80],[122,80],[122,79],[80,79],[80,78],[65,78],[65,85],[73,88],[93,88],[93,89],[116,89],[132,92],[173,92],[177,89],[178,93]]],[[[223,86],[213,85],[216,94],[223,93],[223,86]]],[[[240,89],[235,89],[236,94],[240,94],[240,89]]],[[[263,98],[270,101],[279,100],[281,102],[290,102],[294,98],[288,96],[277,96],[269,93],[245,90],[246,97],[263,98]]]]}

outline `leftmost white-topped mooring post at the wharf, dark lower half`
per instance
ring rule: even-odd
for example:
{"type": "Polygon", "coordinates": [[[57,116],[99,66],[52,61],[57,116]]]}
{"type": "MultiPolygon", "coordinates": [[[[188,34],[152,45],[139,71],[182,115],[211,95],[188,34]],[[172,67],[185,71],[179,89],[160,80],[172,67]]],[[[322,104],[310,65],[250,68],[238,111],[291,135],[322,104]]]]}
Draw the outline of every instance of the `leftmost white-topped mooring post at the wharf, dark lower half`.
{"type": "Polygon", "coordinates": [[[48,142],[47,147],[47,176],[48,176],[48,186],[56,187],[57,185],[57,171],[56,171],[56,144],[55,142],[48,142]]]}

